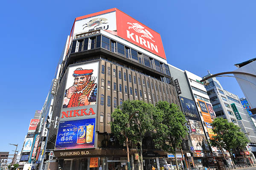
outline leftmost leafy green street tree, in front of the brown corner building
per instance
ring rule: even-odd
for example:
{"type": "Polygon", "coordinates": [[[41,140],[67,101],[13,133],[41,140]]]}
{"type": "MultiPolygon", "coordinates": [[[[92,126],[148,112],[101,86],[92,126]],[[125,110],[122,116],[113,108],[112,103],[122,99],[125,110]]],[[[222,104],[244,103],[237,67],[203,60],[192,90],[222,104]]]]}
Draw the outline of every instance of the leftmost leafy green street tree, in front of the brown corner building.
{"type": "MultiPolygon", "coordinates": [[[[125,142],[125,136],[134,144],[140,154],[140,167],[143,170],[142,142],[147,132],[154,130],[153,115],[157,114],[154,105],[139,100],[126,100],[111,113],[111,131],[119,139],[125,142]]],[[[154,116],[157,117],[157,116],[154,116]]],[[[126,138],[126,139],[127,139],[126,138]]]]}

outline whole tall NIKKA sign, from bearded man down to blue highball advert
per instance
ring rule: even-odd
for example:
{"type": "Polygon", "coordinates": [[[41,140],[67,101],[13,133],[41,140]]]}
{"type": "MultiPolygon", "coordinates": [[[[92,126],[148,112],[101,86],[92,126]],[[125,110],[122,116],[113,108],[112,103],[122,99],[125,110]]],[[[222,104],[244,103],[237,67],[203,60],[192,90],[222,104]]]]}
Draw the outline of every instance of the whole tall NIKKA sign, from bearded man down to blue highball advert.
{"type": "Polygon", "coordinates": [[[69,67],[55,149],[95,147],[98,69],[99,62],[69,67]]]}

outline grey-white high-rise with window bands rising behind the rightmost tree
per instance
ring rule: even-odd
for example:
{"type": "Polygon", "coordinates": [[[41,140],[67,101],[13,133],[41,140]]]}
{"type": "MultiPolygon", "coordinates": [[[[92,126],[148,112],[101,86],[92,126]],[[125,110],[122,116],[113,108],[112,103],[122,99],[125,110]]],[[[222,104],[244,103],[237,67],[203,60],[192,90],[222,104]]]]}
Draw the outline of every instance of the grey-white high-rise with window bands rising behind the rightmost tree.
{"type": "MultiPolygon", "coordinates": [[[[208,74],[205,77],[210,75],[212,74],[208,74]]],[[[208,79],[208,81],[209,85],[205,87],[216,116],[223,117],[224,119],[227,119],[228,122],[233,122],[238,125],[241,128],[241,131],[250,140],[251,146],[254,147],[256,141],[256,128],[247,110],[241,105],[239,96],[224,90],[215,77],[208,79]]],[[[242,158],[240,152],[237,152],[236,154],[236,158],[242,158]]],[[[255,161],[251,150],[248,160],[250,160],[250,162],[255,161]]]]}

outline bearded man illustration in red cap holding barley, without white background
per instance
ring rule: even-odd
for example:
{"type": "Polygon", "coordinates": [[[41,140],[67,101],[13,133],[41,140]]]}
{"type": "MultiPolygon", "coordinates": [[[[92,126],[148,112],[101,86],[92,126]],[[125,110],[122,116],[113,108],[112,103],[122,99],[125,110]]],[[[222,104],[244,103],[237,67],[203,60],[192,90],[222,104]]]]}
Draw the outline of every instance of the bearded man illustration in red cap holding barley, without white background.
{"type": "Polygon", "coordinates": [[[97,84],[95,83],[96,78],[91,77],[92,74],[92,69],[77,68],[74,71],[75,81],[73,86],[65,91],[63,108],[96,104],[97,84]]]}

